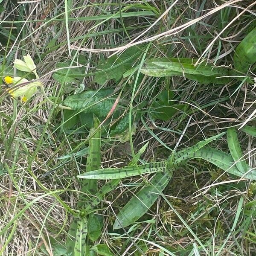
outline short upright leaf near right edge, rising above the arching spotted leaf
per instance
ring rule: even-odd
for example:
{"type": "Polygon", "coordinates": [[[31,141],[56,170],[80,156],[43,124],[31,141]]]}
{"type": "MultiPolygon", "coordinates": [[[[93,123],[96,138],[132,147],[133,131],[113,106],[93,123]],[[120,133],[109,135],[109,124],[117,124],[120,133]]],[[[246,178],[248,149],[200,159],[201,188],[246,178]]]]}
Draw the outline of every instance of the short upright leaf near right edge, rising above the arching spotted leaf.
{"type": "Polygon", "coordinates": [[[239,140],[236,134],[235,128],[227,129],[227,145],[230,150],[231,156],[233,157],[234,162],[236,162],[236,167],[241,173],[246,172],[247,164],[243,159],[243,154],[239,144],[239,140]]]}

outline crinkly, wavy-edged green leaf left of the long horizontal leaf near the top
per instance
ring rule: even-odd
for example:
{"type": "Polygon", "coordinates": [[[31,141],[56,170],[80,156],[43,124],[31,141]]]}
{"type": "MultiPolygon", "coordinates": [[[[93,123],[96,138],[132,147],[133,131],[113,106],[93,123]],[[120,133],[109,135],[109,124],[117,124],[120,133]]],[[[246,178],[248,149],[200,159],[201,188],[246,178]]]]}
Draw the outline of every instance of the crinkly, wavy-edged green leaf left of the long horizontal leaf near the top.
{"type": "Polygon", "coordinates": [[[118,82],[125,71],[129,70],[140,54],[138,47],[130,47],[122,52],[121,55],[113,55],[107,58],[104,63],[97,67],[97,71],[106,70],[104,73],[99,73],[94,76],[93,81],[103,85],[105,82],[114,79],[118,82]]]}

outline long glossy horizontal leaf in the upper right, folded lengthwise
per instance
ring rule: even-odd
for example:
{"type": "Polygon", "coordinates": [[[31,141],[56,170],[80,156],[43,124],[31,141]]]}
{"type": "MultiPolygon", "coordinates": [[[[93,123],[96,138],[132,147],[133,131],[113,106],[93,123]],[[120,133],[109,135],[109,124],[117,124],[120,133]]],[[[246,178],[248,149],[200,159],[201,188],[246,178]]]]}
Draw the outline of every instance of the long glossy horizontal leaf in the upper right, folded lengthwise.
{"type": "Polygon", "coordinates": [[[189,58],[154,58],[144,64],[141,73],[157,77],[185,76],[187,79],[195,80],[202,84],[224,84],[229,81],[229,78],[218,78],[220,76],[228,76],[227,69],[213,67],[207,62],[195,67],[195,62],[195,59],[189,58]]]}

